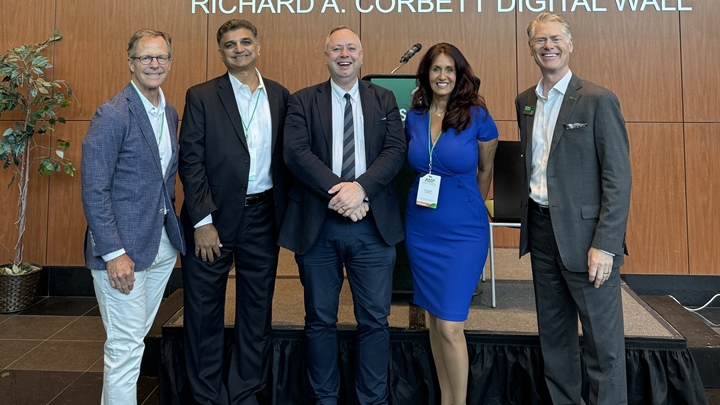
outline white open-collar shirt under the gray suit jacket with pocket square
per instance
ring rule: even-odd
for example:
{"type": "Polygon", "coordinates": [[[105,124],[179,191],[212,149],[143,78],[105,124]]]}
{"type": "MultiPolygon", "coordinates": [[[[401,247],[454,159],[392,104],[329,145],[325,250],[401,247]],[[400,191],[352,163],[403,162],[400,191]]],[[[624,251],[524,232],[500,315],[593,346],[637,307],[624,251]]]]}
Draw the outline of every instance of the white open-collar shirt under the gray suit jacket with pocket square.
{"type": "Polygon", "coordinates": [[[532,132],[532,173],[530,174],[530,198],[540,205],[548,205],[547,161],[550,155],[555,123],[560,112],[572,72],[560,79],[547,95],[542,94],[543,79],[540,79],[535,94],[535,119],[532,132]]]}

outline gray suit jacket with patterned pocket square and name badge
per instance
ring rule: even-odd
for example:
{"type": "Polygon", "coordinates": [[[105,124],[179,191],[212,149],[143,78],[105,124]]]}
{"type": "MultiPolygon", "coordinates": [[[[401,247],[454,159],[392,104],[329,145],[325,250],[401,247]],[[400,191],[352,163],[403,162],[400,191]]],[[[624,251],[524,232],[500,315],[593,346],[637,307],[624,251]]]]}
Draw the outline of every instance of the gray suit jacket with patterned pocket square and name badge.
{"type": "MultiPolygon", "coordinates": [[[[527,197],[532,172],[535,86],[515,99],[520,143],[525,159],[520,255],[530,251],[527,197]]],[[[630,208],[630,147],[620,103],[610,90],[573,75],[560,107],[547,165],[548,203],[563,264],[586,272],[590,247],[624,262],[625,229],[630,208]],[[572,128],[567,124],[587,124],[572,128]]]]}

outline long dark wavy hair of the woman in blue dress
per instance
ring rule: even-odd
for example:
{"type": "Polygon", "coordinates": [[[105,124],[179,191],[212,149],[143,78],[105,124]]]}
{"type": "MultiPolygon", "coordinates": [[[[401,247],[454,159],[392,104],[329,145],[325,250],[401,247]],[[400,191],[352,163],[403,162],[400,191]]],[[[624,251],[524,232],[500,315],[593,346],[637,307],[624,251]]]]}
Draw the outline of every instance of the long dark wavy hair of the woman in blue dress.
{"type": "MultiPolygon", "coordinates": [[[[456,134],[467,129],[472,122],[472,107],[480,107],[488,112],[483,96],[478,94],[475,74],[462,52],[455,45],[441,42],[433,45],[423,56],[418,66],[418,90],[413,95],[412,108],[418,114],[425,114],[432,104],[433,92],[430,87],[430,69],[438,56],[445,54],[455,62],[455,88],[445,109],[442,131],[454,128],[456,134]]],[[[487,118],[487,115],[486,115],[487,118]]]]}

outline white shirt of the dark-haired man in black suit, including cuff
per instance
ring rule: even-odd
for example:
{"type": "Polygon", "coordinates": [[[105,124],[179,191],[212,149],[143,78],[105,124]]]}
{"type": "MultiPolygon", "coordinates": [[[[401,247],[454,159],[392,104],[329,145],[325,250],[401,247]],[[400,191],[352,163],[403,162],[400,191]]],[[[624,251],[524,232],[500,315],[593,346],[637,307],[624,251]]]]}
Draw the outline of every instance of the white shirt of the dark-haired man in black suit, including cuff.
{"type": "MultiPolygon", "coordinates": [[[[265,83],[260,72],[255,69],[255,74],[260,81],[255,92],[250,92],[250,87],[242,83],[235,76],[229,74],[230,84],[235,94],[240,117],[245,129],[245,140],[248,148],[255,148],[257,154],[251,167],[255,168],[256,178],[248,178],[247,194],[257,194],[273,187],[271,175],[272,163],[272,117],[270,116],[270,101],[268,100],[265,83]],[[257,107],[256,107],[257,106],[257,107]]],[[[203,218],[195,224],[195,228],[212,224],[212,214],[203,218]]]]}

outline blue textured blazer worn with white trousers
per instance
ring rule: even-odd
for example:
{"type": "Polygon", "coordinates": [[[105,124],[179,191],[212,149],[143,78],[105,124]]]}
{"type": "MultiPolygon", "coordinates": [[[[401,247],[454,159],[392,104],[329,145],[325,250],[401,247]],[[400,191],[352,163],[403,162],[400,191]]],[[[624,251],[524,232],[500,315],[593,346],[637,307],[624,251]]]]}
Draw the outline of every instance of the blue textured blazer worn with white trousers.
{"type": "Polygon", "coordinates": [[[155,133],[132,84],[95,112],[82,148],[82,201],[88,228],[85,266],[105,269],[102,255],[125,249],[135,270],[152,265],[160,247],[163,203],[168,208],[170,242],[185,253],[180,221],[175,215],[178,115],[166,104],[172,160],[165,176],[155,133]]]}

